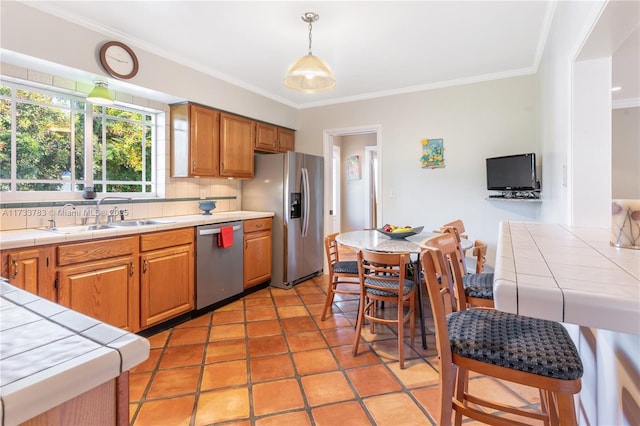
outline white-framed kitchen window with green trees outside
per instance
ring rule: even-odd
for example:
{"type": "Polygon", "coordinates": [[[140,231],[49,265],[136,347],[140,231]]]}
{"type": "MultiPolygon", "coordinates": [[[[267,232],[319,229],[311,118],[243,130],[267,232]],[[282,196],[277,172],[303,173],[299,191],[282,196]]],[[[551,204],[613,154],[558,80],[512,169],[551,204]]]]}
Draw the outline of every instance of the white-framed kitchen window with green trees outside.
{"type": "Polygon", "coordinates": [[[157,113],[0,83],[0,194],[155,195],[157,113]]]}

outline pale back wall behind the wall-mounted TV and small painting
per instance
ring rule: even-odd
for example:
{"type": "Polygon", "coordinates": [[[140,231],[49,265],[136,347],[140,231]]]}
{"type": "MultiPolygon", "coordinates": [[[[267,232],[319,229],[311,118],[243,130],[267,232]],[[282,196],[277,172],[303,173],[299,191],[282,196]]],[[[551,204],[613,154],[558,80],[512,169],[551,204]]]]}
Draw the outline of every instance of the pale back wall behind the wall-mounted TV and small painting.
{"type": "Polygon", "coordinates": [[[536,221],[540,204],[487,201],[485,158],[538,151],[536,91],[524,76],[305,109],[296,149],[322,155],[323,130],[379,125],[379,222],[430,230],[463,219],[493,264],[499,222],[536,221]],[[445,168],[421,168],[423,138],[444,139],[445,168]]]}

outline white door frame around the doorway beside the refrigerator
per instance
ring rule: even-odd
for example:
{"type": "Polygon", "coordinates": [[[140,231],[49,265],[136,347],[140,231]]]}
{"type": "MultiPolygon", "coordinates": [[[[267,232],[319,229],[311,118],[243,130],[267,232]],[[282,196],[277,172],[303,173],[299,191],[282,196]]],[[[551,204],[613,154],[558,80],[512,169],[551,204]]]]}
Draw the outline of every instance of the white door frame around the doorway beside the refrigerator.
{"type": "MultiPolygon", "coordinates": [[[[330,159],[333,158],[333,139],[336,136],[351,136],[351,135],[361,135],[366,133],[375,133],[376,135],[376,149],[378,151],[378,182],[380,183],[380,188],[382,187],[382,167],[380,167],[380,160],[382,158],[382,126],[380,124],[372,124],[367,126],[356,126],[356,127],[344,127],[337,129],[325,129],[322,132],[322,140],[323,140],[323,155],[324,158],[330,159]]],[[[327,206],[327,210],[324,215],[324,227],[325,229],[333,229],[333,219],[329,215],[330,206],[332,206],[332,197],[333,197],[333,162],[325,161],[324,162],[324,180],[325,180],[325,194],[324,201],[325,206],[327,206]]],[[[337,186],[340,187],[339,185],[337,186]]],[[[382,191],[378,189],[378,193],[381,194],[382,191]]],[[[377,200],[377,218],[378,222],[382,220],[382,200],[378,197],[377,200]]],[[[378,224],[376,224],[377,226],[378,224]]],[[[338,231],[334,231],[338,232],[338,231]]]]}

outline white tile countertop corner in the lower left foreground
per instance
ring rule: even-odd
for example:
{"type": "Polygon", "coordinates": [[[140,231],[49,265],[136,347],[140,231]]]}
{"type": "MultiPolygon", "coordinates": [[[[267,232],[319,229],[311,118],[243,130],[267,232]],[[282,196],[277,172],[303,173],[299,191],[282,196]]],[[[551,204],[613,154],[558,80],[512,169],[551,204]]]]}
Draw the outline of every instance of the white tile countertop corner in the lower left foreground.
{"type": "Polygon", "coordinates": [[[0,418],[20,424],[115,379],[149,341],[0,279],[0,418]]]}

